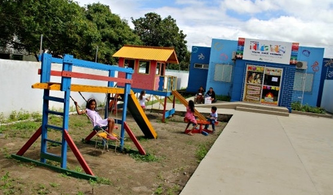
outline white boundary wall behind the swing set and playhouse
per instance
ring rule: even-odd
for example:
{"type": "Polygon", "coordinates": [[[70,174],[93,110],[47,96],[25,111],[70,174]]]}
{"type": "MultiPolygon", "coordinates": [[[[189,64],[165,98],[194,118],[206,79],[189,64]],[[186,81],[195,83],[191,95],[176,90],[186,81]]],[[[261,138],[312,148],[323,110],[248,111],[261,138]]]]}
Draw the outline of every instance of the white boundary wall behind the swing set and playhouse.
{"type": "MultiPolygon", "coordinates": [[[[43,91],[41,89],[32,89],[31,86],[40,82],[38,69],[41,68],[40,62],[15,61],[0,59],[0,114],[8,117],[12,111],[26,110],[28,112],[42,112],[43,110],[43,91]]],[[[52,70],[61,71],[62,65],[53,64],[52,70]]],[[[73,72],[82,72],[88,74],[108,76],[107,71],[99,71],[81,67],[73,67],[73,72]]],[[[177,89],[186,88],[188,81],[188,72],[178,72],[166,70],[166,75],[177,77],[177,89]]],[[[116,72],[117,76],[117,72],[116,72]]],[[[60,83],[60,77],[51,76],[51,82],[60,83]]],[[[107,82],[72,79],[72,84],[108,86],[107,82]]],[[[50,91],[51,96],[64,97],[60,91],[50,91]]],[[[88,99],[94,97],[97,104],[105,102],[105,94],[100,93],[82,93],[88,99]]],[[[85,108],[85,100],[77,92],[72,92],[71,96],[79,103],[81,108],[85,108]]],[[[70,105],[74,106],[73,101],[70,105]]],[[[63,108],[63,104],[50,101],[50,107],[54,110],[63,108]]]]}

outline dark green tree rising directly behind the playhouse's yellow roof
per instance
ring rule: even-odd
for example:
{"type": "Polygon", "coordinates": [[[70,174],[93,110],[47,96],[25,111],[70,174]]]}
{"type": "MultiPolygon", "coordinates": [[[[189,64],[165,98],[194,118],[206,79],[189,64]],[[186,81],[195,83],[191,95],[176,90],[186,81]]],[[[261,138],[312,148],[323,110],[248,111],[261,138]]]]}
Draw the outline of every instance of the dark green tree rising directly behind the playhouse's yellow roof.
{"type": "MultiPolygon", "coordinates": [[[[134,32],[140,36],[146,46],[173,47],[175,49],[180,70],[187,70],[189,63],[189,52],[185,40],[186,35],[179,30],[171,16],[164,19],[157,13],[147,13],[145,17],[134,20],[134,32]]],[[[169,69],[178,70],[178,65],[169,65],[169,69]]]]}

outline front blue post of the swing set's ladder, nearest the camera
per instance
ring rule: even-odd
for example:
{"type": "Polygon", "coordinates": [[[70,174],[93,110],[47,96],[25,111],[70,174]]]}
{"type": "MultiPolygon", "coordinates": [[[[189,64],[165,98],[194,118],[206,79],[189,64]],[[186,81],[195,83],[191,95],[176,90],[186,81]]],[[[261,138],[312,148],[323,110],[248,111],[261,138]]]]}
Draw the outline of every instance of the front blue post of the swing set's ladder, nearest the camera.
{"type": "MultiPolygon", "coordinates": [[[[72,55],[65,55],[63,60],[63,71],[72,71],[73,66],[73,56],[72,55]]],[[[64,115],[63,115],[63,133],[62,133],[62,148],[61,148],[61,167],[67,167],[67,142],[65,140],[64,130],[68,129],[68,121],[69,121],[69,103],[70,103],[70,93],[71,93],[71,78],[70,77],[61,77],[61,91],[64,91],[64,115]]]]}

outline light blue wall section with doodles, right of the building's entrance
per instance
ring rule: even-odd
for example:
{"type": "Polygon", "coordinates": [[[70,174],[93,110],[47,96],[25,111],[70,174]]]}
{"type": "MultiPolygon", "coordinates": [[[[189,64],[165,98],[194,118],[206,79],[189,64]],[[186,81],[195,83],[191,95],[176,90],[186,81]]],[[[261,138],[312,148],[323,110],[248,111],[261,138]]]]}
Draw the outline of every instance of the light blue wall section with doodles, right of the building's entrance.
{"type": "Polygon", "coordinates": [[[299,47],[297,61],[307,62],[307,69],[296,69],[296,71],[299,73],[306,72],[307,74],[313,74],[312,91],[304,92],[304,94],[303,91],[293,91],[292,101],[300,101],[302,104],[317,106],[323,56],[324,48],[299,47]],[[303,101],[301,101],[302,97],[303,101]]]}

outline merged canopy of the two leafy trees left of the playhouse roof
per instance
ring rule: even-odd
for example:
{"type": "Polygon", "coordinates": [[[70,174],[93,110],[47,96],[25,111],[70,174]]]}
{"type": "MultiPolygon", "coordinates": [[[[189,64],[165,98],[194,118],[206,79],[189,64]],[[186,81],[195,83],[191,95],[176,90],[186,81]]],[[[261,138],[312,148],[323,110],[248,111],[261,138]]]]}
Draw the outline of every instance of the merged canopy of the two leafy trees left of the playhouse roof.
{"type": "Polygon", "coordinates": [[[114,64],[112,54],[123,44],[141,44],[126,21],[109,6],[94,3],[80,7],[70,0],[4,0],[0,4],[0,45],[11,45],[37,57],[40,36],[43,50],[53,56],[72,54],[75,58],[114,64]],[[16,37],[13,39],[13,37],[16,37]]]}

